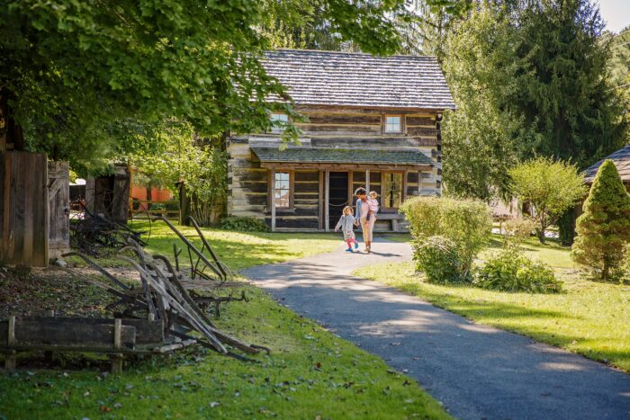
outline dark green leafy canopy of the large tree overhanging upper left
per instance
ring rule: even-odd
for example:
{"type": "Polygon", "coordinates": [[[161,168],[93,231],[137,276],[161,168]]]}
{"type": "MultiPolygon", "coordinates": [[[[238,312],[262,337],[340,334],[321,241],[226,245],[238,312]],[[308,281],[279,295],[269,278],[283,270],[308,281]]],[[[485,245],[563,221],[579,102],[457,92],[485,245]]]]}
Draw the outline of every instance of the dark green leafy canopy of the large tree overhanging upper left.
{"type": "MultiPolygon", "coordinates": [[[[266,4],[8,0],[0,4],[0,110],[17,149],[85,161],[112,156],[116,134],[143,123],[189,121],[203,136],[266,129],[270,95],[284,88],[260,63],[270,42],[266,4]]],[[[295,17],[306,1],[284,4],[295,17]]],[[[366,52],[399,47],[390,18],[402,0],[315,0],[341,40],[366,52]]],[[[276,107],[292,113],[290,103],[276,107]]],[[[127,136],[127,134],[123,134],[127,136]]],[[[98,160],[98,159],[97,159],[98,160]]]]}

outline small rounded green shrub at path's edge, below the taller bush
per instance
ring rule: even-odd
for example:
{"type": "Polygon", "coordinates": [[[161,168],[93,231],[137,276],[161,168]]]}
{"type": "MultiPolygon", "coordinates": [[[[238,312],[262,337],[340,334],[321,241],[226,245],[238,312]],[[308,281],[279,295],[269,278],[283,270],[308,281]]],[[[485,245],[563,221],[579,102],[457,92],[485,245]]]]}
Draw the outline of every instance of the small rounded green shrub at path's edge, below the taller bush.
{"type": "Polygon", "coordinates": [[[462,261],[455,242],[446,237],[428,237],[414,242],[416,269],[436,284],[464,282],[462,261]]]}

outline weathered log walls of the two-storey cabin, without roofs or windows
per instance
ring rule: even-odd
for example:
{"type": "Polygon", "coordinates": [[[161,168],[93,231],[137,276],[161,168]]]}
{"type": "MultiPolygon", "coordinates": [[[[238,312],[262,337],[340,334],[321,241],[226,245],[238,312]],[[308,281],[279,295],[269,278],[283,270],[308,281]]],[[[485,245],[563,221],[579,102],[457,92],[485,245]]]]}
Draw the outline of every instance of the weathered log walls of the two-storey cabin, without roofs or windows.
{"type": "MultiPolygon", "coordinates": [[[[331,148],[415,149],[432,158],[432,170],[407,170],[404,195],[439,195],[441,193],[442,151],[437,112],[401,109],[364,109],[331,106],[298,106],[307,119],[296,122],[302,130],[302,146],[331,148]],[[386,133],[383,126],[386,115],[400,115],[401,133],[386,133]]],[[[278,133],[238,135],[231,133],[228,152],[228,213],[234,216],[265,219],[271,226],[268,197],[269,171],[261,167],[250,146],[280,144],[278,133]]],[[[294,166],[294,165],[293,165],[294,166]]],[[[365,169],[370,169],[366,166],[365,169]]],[[[281,170],[281,169],[279,169],[281,170]]],[[[293,209],[276,209],[276,228],[318,229],[323,227],[323,171],[292,168],[294,179],[293,209]]],[[[365,186],[365,170],[351,171],[349,193],[365,186]]],[[[371,170],[370,191],[381,191],[381,171],[371,170]]],[[[336,218],[337,215],[330,215],[336,218]]],[[[391,219],[381,219],[377,230],[397,229],[391,219]]]]}

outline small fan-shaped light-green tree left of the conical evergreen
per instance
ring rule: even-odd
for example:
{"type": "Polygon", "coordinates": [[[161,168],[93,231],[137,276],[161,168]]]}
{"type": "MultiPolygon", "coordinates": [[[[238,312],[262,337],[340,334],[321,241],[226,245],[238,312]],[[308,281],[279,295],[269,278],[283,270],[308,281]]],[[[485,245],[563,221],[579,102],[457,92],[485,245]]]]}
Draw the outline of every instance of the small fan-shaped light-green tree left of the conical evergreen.
{"type": "Polygon", "coordinates": [[[545,243],[545,231],[563,212],[586,195],[584,175],[575,165],[537,157],[509,170],[512,189],[521,202],[534,206],[538,238],[545,243]]]}

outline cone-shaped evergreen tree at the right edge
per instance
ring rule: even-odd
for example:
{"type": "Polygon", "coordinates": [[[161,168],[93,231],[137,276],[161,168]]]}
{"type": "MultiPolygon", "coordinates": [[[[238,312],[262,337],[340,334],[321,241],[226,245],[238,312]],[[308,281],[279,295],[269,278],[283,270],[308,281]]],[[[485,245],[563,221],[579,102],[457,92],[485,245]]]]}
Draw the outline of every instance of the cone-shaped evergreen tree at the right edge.
{"type": "Polygon", "coordinates": [[[607,159],[599,167],[583,213],[577,220],[572,257],[602,281],[617,276],[630,241],[630,195],[617,167],[607,159]]]}

